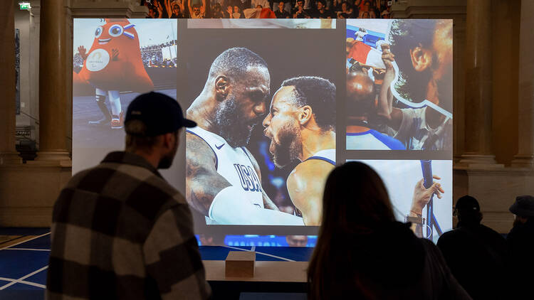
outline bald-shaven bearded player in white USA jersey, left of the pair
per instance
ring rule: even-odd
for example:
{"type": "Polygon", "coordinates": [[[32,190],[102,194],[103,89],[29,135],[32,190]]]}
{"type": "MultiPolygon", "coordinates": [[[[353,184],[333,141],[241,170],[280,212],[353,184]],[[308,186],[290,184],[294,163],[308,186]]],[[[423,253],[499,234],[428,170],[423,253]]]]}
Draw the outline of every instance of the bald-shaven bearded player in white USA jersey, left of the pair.
{"type": "Polygon", "coordinates": [[[186,134],[186,198],[207,224],[303,225],[269,199],[246,149],[267,112],[270,84],[263,58],[231,48],[211,64],[204,90],[187,109],[197,127],[186,134]]]}

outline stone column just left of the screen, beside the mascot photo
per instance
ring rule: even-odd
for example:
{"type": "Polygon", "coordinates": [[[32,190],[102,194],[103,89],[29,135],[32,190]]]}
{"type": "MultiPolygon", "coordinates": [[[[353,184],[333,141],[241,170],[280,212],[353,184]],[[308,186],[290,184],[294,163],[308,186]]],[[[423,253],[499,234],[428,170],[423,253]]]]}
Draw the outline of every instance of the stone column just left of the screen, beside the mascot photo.
{"type": "Polygon", "coordinates": [[[67,61],[64,0],[41,3],[39,38],[39,161],[70,160],[66,146],[67,61]]]}

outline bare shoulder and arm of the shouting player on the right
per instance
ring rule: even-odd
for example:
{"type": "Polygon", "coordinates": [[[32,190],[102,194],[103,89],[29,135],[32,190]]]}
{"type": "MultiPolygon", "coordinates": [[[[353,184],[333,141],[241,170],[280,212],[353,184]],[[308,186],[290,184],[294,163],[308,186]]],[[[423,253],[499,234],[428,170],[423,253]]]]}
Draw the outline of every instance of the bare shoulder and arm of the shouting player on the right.
{"type": "Polygon", "coordinates": [[[288,176],[289,197],[303,215],[305,225],[320,225],[323,217],[323,191],[328,173],[334,166],[310,160],[299,164],[288,176]]]}

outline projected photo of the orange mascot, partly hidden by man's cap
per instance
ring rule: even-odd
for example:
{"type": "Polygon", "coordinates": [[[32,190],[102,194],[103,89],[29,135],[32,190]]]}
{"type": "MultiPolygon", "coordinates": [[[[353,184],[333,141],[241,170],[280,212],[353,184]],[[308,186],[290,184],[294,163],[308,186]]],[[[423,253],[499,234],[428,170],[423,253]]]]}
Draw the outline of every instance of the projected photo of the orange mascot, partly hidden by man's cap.
{"type": "Polygon", "coordinates": [[[124,149],[122,122],[140,93],[176,97],[177,21],[75,19],[73,172],[124,149]]]}

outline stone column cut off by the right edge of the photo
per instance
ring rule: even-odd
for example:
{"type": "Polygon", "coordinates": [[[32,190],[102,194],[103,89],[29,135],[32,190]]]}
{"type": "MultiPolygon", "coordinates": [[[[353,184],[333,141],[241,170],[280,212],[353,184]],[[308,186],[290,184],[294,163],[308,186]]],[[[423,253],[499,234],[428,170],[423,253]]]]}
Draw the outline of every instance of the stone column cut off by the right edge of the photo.
{"type": "Polygon", "coordinates": [[[534,167],[534,1],[521,1],[519,34],[518,154],[512,166],[534,167]]]}

